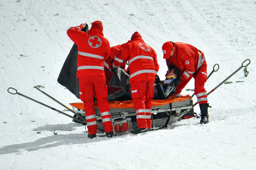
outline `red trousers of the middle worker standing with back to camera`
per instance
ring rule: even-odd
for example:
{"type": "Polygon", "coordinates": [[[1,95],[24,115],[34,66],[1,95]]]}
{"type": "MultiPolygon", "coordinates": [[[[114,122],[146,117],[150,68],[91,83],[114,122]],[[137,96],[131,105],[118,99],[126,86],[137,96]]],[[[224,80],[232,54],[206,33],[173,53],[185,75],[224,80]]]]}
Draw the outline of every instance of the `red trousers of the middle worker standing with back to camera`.
{"type": "Polygon", "coordinates": [[[155,79],[130,82],[138,128],[151,128],[151,98],[154,95],[154,82],[155,79]]]}

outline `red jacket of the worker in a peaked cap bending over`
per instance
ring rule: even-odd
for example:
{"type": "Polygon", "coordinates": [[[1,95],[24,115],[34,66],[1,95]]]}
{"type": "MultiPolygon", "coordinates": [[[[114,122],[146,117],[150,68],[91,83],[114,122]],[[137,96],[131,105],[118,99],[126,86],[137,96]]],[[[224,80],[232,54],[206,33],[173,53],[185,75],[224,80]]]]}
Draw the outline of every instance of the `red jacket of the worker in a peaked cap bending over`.
{"type": "Polygon", "coordinates": [[[204,63],[204,53],[190,44],[174,43],[173,57],[166,59],[167,66],[175,65],[181,71],[181,79],[186,80],[204,63]]]}

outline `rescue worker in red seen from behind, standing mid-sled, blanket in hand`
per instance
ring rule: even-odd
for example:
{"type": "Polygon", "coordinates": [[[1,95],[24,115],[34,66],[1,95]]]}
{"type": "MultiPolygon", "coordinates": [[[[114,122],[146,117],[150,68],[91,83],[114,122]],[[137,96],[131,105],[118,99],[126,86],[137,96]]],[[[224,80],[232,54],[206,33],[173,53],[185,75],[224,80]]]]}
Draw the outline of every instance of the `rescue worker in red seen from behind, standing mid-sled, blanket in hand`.
{"type": "Polygon", "coordinates": [[[126,43],[113,62],[119,67],[126,60],[129,65],[129,82],[136,112],[138,127],[131,133],[147,132],[151,128],[151,98],[154,95],[154,81],[159,70],[155,51],[148,46],[138,32],[126,43]]]}

